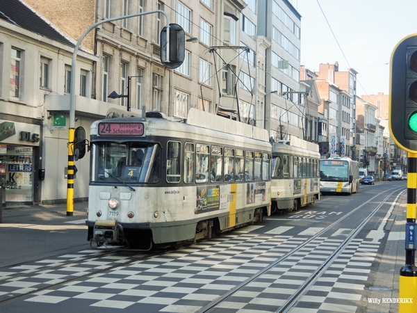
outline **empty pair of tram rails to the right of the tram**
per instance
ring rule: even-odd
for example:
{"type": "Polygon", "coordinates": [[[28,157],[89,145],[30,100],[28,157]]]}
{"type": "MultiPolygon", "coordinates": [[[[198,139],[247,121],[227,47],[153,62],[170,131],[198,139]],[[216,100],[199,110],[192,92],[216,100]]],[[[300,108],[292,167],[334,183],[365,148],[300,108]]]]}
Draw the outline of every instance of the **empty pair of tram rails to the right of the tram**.
{"type": "MultiPolygon", "coordinates": [[[[373,211],[370,212],[370,214],[368,214],[368,216],[366,216],[366,218],[364,218],[362,220],[362,222],[359,224],[359,226],[357,226],[356,229],[352,230],[352,232],[350,232],[350,234],[347,235],[346,239],[341,244],[339,244],[338,247],[336,247],[334,249],[334,251],[332,252],[332,255],[329,255],[329,257],[327,257],[327,259],[325,259],[325,261],[322,262],[322,264],[320,264],[318,266],[316,271],[313,271],[313,273],[311,273],[311,275],[309,275],[309,278],[307,278],[304,281],[304,283],[300,285],[300,287],[297,289],[297,291],[294,294],[292,294],[291,296],[289,296],[287,298],[286,302],[283,305],[281,305],[279,308],[277,308],[277,311],[276,311],[277,313],[284,313],[284,312],[288,312],[288,310],[291,310],[291,308],[294,307],[295,304],[297,303],[297,300],[302,296],[302,294],[304,294],[304,291],[308,290],[309,287],[311,287],[311,285],[313,285],[314,282],[316,282],[316,280],[318,280],[318,278],[320,278],[322,273],[324,273],[326,271],[326,269],[329,268],[329,266],[332,265],[332,263],[338,257],[338,255],[340,255],[341,252],[343,252],[343,250],[345,250],[345,248],[348,246],[350,241],[352,241],[352,239],[354,239],[354,237],[357,236],[357,234],[359,234],[359,232],[373,218],[373,216],[375,216],[375,214],[377,213],[377,211],[379,211],[379,209],[382,207],[382,205],[385,204],[389,200],[389,198],[391,198],[391,196],[393,194],[395,194],[396,192],[400,191],[403,188],[392,188],[392,189],[394,189],[394,191],[391,191],[391,193],[389,193],[389,195],[386,195],[384,200],[382,200],[382,202],[380,202],[379,205],[377,205],[377,207],[375,207],[375,209],[373,209],[373,211]]],[[[395,202],[398,200],[398,198],[400,197],[400,195],[402,193],[404,193],[404,191],[398,193],[397,197],[395,198],[395,202]]],[[[223,296],[213,300],[211,303],[208,303],[206,306],[202,307],[202,309],[199,310],[198,313],[211,312],[212,310],[215,309],[215,307],[217,307],[218,305],[220,305],[221,303],[223,303],[227,299],[231,298],[231,296],[234,296],[234,294],[236,294],[238,291],[244,289],[251,282],[254,282],[256,279],[261,278],[262,275],[267,274],[272,268],[275,268],[275,266],[278,266],[280,263],[286,261],[289,257],[295,255],[295,252],[297,252],[297,251],[301,250],[302,248],[306,247],[307,245],[309,245],[309,243],[311,243],[315,239],[322,236],[322,234],[324,234],[325,232],[331,230],[332,227],[334,227],[334,226],[338,225],[339,223],[343,222],[343,220],[345,220],[346,218],[348,218],[349,216],[354,214],[356,211],[361,209],[364,205],[366,205],[369,202],[375,200],[375,198],[377,198],[377,197],[379,197],[379,194],[375,195],[373,198],[370,198],[369,200],[367,200],[363,204],[359,205],[357,208],[350,211],[348,214],[345,214],[345,216],[339,218],[338,220],[336,220],[331,225],[328,225],[327,227],[325,227],[323,230],[321,230],[317,234],[311,236],[309,239],[307,239],[306,241],[301,243],[299,246],[297,246],[296,248],[293,248],[293,250],[286,253],[286,255],[283,255],[282,257],[277,259],[275,262],[272,262],[271,264],[269,264],[268,266],[263,268],[258,273],[255,273],[254,275],[252,275],[252,277],[248,278],[244,282],[241,282],[236,287],[234,287],[233,289],[231,289],[227,293],[225,293],[223,296]]]]}

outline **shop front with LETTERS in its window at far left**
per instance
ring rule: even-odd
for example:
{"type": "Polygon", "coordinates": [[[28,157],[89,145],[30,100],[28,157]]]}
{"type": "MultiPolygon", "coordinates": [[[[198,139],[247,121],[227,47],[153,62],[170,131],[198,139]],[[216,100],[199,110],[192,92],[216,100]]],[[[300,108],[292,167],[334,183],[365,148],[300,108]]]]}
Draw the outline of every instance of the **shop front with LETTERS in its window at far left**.
{"type": "MultiPolygon", "coordinates": [[[[40,125],[0,120],[0,186],[3,206],[33,204],[38,162],[40,125]]],[[[37,189],[37,188],[36,188],[37,189]]]]}

